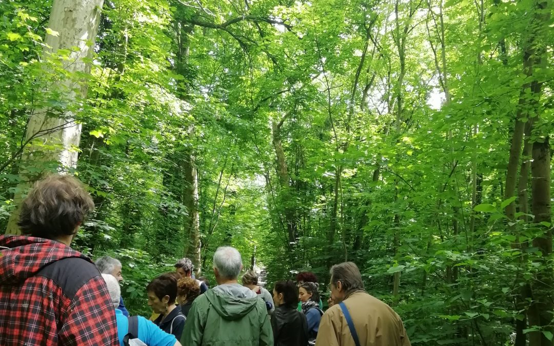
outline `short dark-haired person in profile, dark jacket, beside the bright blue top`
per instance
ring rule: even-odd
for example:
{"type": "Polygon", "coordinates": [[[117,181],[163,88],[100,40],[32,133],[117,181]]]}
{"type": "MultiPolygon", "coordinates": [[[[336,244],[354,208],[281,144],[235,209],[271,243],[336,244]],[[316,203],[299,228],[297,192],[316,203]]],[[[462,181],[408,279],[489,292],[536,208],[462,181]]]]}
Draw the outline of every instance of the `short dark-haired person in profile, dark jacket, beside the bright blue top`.
{"type": "Polygon", "coordinates": [[[177,306],[177,280],[179,275],[175,272],[165,273],[146,286],[148,294],[148,306],[160,316],[154,323],[164,332],[175,335],[181,339],[186,317],[181,313],[181,307],[177,306]]]}

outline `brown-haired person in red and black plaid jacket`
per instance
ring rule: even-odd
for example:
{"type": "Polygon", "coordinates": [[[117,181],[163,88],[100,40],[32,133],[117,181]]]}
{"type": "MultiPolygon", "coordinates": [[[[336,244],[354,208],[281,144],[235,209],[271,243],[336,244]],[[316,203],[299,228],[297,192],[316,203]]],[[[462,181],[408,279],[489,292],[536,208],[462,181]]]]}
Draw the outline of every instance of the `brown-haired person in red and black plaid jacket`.
{"type": "Polygon", "coordinates": [[[71,241],[93,199],[69,175],[34,185],[23,234],[0,235],[0,345],[119,345],[114,306],[93,262],[71,241]]]}

